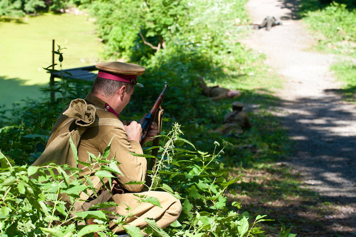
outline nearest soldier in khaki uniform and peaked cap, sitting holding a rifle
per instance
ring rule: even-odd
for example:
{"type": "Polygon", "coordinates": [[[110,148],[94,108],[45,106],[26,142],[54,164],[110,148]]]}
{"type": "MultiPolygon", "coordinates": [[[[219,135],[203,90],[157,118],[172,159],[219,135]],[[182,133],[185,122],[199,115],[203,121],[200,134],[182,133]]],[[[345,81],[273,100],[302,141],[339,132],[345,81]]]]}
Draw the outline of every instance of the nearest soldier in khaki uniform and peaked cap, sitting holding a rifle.
{"type": "MultiPolygon", "coordinates": [[[[93,197],[87,197],[86,202],[74,203],[74,211],[86,211],[93,204],[105,199],[121,204],[120,206],[109,208],[109,211],[120,215],[127,215],[128,212],[133,214],[127,220],[129,225],[143,228],[146,226],[144,218],[152,218],[156,220],[158,226],[164,228],[180,216],[182,210],[180,201],[166,192],[140,192],[143,184],[125,185],[125,183],[130,181],[145,181],[146,176],[146,159],[129,153],[143,154],[140,145],[142,135],[141,125],[135,121],[130,124],[123,124],[119,119],[120,112],[130,102],[131,95],[134,92],[134,85],[141,85],[136,81],[137,76],[142,75],[145,69],[139,65],[121,62],[100,63],[96,67],[99,69],[99,72],[94,81],[93,91],[85,98],[85,102],[88,105],[93,105],[96,108],[96,124],[94,123],[92,126],[87,127],[81,135],[78,144],[78,157],[80,161],[89,162],[88,152],[95,156],[103,154],[105,147],[111,141],[111,150],[108,158],[111,159],[115,156],[115,159],[121,163],[118,165],[118,168],[123,175],[114,175],[117,176],[117,180],[121,188],[125,190],[125,193],[110,195],[107,191],[104,191],[99,198],[93,199],[93,197]],[[138,193],[139,195],[158,198],[162,208],[147,202],[138,204],[136,200],[138,198],[134,196],[135,192],[140,192],[138,193]],[[131,207],[130,211],[126,210],[126,205],[131,207]]],[[[51,136],[60,136],[71,129],[71,123],[63,125],[66,119],[68,117],[64,114],[58,117],[52,129],[51,136]]],[[[149,136],[155,136],[157,133],[157,124],[153,123],[149,136]]],[[[51,140],[53,140],[53,137],[50,138],[49,142],[51,140]]],[[[35,162],[35,165],[39,163],[35,162]]],[[[80,164],[78,164],[78,167],[84,168],[80,164]]],[[[83,172],[82,174],[88,173],[83,172]]],[[[91,177],[93,180],[96,179],[96,176],[91,177]]],[[[116,228],[113,222],[110,224],[110,229],[115,232],[123,231],[122,228],[116,228]]]]}

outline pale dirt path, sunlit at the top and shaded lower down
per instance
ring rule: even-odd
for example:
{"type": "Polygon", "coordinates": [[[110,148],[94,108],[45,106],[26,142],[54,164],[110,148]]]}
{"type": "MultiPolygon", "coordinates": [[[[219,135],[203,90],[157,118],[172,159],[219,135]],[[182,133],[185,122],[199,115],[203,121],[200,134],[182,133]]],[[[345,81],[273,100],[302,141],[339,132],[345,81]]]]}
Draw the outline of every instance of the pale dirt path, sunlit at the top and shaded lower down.
{"type": "MultiPolygon", "coordinates": [[[[246,8],[254,23],[275,16],[283,25],[256,30],[244,39],[247,47],[266,55],[265,63],[284,79],[276,95],[281,116],[295,142],[287,164],[300,172],[304,187],[331,202],[333,212],[319,221],[318,236],[356,235],[356,106],[335,92],[340,84],[329,71],[336,56],[311,49],[314,39],[295,18],[298,1],[250,0],[246,8]]],[[[299,215],[299,214],[296,214],[299,215]]],[[[304,218],[303,216],[300,216],[304,218]]],[[[302,235],[312,236],[301,231],[302,235]]]]}

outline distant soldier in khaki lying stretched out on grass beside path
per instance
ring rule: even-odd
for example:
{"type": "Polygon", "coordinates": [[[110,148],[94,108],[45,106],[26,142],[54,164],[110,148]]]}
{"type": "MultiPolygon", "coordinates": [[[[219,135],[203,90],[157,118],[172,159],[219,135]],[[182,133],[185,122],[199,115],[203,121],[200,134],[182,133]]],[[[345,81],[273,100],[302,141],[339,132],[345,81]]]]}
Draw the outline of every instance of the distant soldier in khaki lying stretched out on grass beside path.
{"type": "Polygon", "coordinates": [[[203,78],[197,76],[198,86],[202,89],[202,94],[204,96],[210,97],[212,100],[222,100],[229,98],[237,98],[241,96],[239,91],[234,91],[226,88],[215,86],[207,86],[203,78]]]}

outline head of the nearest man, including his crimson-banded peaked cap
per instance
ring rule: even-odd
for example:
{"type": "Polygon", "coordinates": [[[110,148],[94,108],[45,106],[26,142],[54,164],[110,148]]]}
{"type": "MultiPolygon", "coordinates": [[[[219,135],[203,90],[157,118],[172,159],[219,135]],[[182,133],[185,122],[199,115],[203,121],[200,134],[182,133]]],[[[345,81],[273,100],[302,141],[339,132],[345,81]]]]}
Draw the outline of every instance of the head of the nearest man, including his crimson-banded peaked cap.
{"type": "Polygon", "coordinates": [[[137,83],[137,76],[142,75],[145,69],[121,62],[99,63],[95,66],[99,72],[93,84],[93,94],[120,113],[130,102],[134,85],[143,87],[137,83]]]}

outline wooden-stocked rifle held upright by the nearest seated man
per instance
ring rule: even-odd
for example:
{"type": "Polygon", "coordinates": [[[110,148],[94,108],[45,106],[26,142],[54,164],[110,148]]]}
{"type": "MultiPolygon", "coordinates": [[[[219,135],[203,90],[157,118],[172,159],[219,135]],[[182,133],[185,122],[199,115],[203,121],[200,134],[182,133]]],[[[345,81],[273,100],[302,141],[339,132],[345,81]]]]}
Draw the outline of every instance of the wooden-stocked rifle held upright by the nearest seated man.
{"type": "MultiPolygon", "coordinates": [[[[141,123],[141,127],[142,127],[141,145],[143,144],[143,141],[146,138],[146,136],[147,136],[147,134],[148,134],[148,132],[150,130],[151,123],[154,122],[155,119],[156,119],[157,112],[162,110],[162,108],[160,106],[161,106],[161,103],[163,101],[164,95],[166,94],[167,87],[168,87],[168,84],[167,84],[167,82],[165,82],[163,91],[158,96],[158,98],[157,98],[155,104],[153,105],[150,113],[145,115],[144,118],[143,118],[144,120],[141,123]]],[[[158,124],[158,131],[160,132],[160,124],[159,123],[157,123],[157,124],[158,124]]]]}

